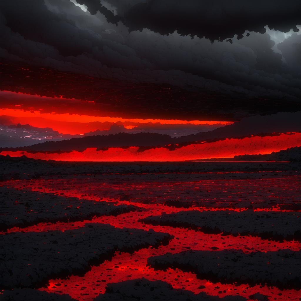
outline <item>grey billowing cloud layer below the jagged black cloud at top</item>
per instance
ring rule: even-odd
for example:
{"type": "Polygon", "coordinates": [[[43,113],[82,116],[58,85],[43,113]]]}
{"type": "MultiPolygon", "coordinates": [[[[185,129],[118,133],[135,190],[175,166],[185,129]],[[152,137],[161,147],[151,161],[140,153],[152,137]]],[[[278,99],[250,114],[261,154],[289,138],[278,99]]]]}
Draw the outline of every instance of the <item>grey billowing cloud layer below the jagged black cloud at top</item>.
{"type": "MultiPolygon", "coordinates": [[[[129,31],[122,21],[114,24],[117,17],[113,21],[109,17],[117,14],[123,18],[141,1],[110,0],[101,4],[83,1],[79,3],[85,3],[93,13],[96,11],[95,15],[82,11],[70,0],[45,0],[45,4],[21,0],[0,2],[0,57],[106,79],[164,83],[242,97],[297,100],[301,96],[300,65],[292,66],[290,60],[284,62],[281,54],[272,50],[275,42],[266,33],[246,32],[241,39],[234,37],[232,43],[211,43],[209,39],[197,36],[191,39],[178,32],[161,35],[147,28],[129,31]]],[[[176,10],[179,3],[175,3],[176,10]]],[[[215,3],[222,10],[223,6],[215,3]]],[[[275,7],[279,8],[277,3],[275,7]]],[[[159,2],[151,4],[157,5],[157,11],[166,11],[163,4],[159,7],[159,2]]],[[[232,4],[229,8],[233,8],[232,4]]],[[[268,4],[271,2],[262,4],[264,11],[268,4]]],[[[271,8],[274,13],[275,7],[271,8]]],[[[235,11],[240,9],[241,5],[235,11]]],[[[228,8],[223,10],[227,12],[228,8]]],[[[250,14],[252,11],[255,8],[250,8],[250,14]]],[[[260,17],[262,12],[258,13],[260,17]]],[[[171,11],[170,15],[173,14],[171,11]]],[[[186,22],[187,14],[184,10],[178,26],[186,22]]],[[[292,23],[293,16],[290,16],[292,23]]],[[[285,22],[278,23],[279,26],[271,24],[278,29],[286,28],[281,27],[285,22]]],[[[284,57],[297,57],[297,51],[288,54],[292,47],[296,47],[295,43],[287,44],[284,57]]]]}

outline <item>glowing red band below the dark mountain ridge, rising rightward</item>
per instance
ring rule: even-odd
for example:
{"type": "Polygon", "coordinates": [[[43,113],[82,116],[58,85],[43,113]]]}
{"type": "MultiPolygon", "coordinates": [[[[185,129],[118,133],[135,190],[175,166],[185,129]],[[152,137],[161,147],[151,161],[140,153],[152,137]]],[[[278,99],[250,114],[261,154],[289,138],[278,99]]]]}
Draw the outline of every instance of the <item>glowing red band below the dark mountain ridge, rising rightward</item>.
{"type": "Polygon", "coordinates": [[[11,157],[26,157],[43,160],[61,161],[185,161],[210,158],[231,158],[244,154],[271,154],[290,147],[301,146],[301,133],[280,134],[278,136],[253,136],[247,138],[231,138],[211,143],[190,144],[169,151],[164,147],[157,147],[145,151],[138,151],[138,147],[110,147],[106,151],[87,148],[83,152],[69,153],[30,153],[26,151],[2,151],[1,155],[11,157]]]}

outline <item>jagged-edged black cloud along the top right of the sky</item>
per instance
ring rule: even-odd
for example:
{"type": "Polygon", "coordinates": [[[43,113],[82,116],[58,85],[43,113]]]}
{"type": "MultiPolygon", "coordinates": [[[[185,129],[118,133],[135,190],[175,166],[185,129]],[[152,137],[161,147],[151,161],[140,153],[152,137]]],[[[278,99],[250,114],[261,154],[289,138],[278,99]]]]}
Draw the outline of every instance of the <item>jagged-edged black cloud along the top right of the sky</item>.
{"type": "MultiPolygon", "coordinates": [[[[91,14],[106,10],[100,0],[79,0],[91,14]]],[[[103,1],[104,2],[104,1],[103,1]]],[[[130,30],[151,29],[173,33],[227,39],[255,31],[265,33],[265,25],[283,32],[301,23],[301,2],[296,0],[106,0],[116,8],[116,16],[106,10],[107,20],[122,20],[130,30]]]]}

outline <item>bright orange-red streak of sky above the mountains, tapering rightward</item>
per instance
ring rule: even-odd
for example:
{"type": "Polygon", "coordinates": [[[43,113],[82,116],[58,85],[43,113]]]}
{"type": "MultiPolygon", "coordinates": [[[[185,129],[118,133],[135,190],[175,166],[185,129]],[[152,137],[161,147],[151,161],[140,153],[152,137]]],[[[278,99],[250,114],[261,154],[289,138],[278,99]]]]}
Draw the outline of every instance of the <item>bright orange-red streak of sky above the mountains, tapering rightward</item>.
{"type": "Polygon", "coordinates": [[[143,124],[224,126],[233,123],[215,120],[126,118],[116,116],[116,113],[112,113],[114,116],[110,116],[107,111],[102,111],[99,106],[96,107],[93,101],[67,99],[61,96],[49,98],[10,91],[0,93],[3,99],[0,116],[8,116],[16,124],[30,124],[41,128],[49,127],[61,134],[84,134],[108,128],[107,125],[104,126],[101,123],[121,122],[126,129],[133,129],[143,124]]]}

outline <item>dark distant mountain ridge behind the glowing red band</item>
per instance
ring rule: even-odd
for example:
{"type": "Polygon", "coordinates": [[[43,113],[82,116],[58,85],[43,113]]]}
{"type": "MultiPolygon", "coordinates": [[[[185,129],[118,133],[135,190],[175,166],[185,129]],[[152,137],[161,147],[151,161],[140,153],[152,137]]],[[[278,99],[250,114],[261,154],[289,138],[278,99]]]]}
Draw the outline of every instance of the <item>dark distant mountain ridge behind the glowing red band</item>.
{"type": "Polygon", "coordinates": [[[19,150],[31,152],[70,152],[84,151],[95,147],[104,149],[109,147],[141,147],[141,151],[154,147],[166,147],[170,150],[188,144],[197,144],[202,141],[213,142],[227,138],[244,138],[254,136],[273,136],[280,133],[301,132],[301,111],[295,113],[277,113],[268,116],[252,116],[244,118],[239,122],[223,126],[209,132],[199,132],[194,135],[171,138],[170,135],[158,133],[131,133],[123,126],[115,125],[110,130],[96,131],[101,135],[87,133],[82,138],[71,138],[62,141],[47,141],[25,147],[4,148],[1,150],[19,150]],[[88,136],[89,135],[89,136],[88,136]]]}

